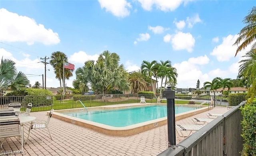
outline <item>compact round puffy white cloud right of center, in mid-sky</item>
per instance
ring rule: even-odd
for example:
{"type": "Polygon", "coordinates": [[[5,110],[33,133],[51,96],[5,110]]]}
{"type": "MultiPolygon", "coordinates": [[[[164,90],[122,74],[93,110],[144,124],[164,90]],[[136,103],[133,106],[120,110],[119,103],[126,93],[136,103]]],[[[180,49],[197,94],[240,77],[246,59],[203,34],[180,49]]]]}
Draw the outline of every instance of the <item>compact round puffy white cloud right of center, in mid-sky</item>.
{"type": "Polygon", "coordinates": [[[196,40],[190,33],[177,32],[171,38],[172,49],[174,50],[185,49],[188,52],[192,52],[195,42],[196,40]]]}

